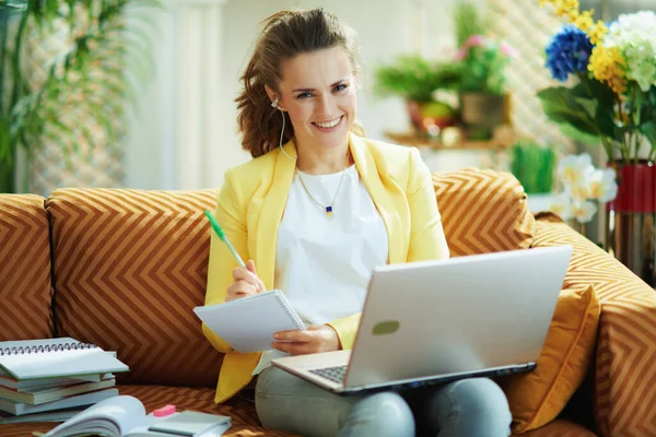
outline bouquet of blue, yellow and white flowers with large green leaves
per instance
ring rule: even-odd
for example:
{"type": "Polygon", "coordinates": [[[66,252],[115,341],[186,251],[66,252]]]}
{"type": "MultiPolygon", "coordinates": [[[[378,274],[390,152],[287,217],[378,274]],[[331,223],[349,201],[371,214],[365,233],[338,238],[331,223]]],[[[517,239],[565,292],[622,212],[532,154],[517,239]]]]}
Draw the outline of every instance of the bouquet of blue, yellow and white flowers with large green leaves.
{"type": "Polygon", "coordinates": [[[565,134],[601,143],[609,162],[656,158],[656,13],[620,15],[607,26],[594,11],[578,11],[577,0],[538,0],[550,4],[566,24],[549,43],[547,67],[570,86],[541,90],[549,119],[565,134]]]}

